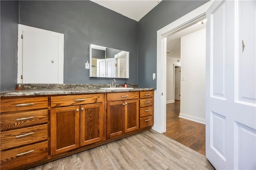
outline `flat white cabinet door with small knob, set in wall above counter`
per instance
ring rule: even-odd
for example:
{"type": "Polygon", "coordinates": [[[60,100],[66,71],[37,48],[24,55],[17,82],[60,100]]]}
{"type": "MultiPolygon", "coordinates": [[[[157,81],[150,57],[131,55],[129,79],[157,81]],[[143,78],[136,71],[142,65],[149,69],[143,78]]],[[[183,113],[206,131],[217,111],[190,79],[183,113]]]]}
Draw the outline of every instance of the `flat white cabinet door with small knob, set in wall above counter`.
{"type": "Polygon", "coordinates": [[[59,83],[58,37],[25,30],[23,37],[23,83],[59,83]]]}

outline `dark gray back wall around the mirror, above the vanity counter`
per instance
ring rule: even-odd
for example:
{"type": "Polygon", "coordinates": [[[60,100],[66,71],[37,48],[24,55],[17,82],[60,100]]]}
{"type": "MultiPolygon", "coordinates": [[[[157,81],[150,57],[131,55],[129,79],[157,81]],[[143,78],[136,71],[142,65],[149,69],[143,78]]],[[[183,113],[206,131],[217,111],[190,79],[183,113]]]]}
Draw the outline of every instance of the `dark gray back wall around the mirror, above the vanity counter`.
{"type": "MultiPolygon", "coordinates": [[[[90,44],[130,51],[130,78],[137,83],[138,22],[91,1],[20,1],[20,24],[64,34],[64,83],[102,84],[89,77],[90,44]]],[[[49,75],[50,76],[50,75],[49,75]]],[[[124,79],[116,79],[124,83],[124,79]]]]}

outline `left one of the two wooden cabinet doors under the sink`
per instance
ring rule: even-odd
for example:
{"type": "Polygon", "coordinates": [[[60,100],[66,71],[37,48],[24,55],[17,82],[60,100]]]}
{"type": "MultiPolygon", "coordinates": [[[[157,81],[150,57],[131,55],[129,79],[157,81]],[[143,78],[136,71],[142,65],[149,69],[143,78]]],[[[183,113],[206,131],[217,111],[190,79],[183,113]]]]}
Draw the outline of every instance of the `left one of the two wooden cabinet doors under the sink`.
{"type": "Polygon", "coordinates": [[[114,138],[124,133],[124,101],[107,103],[107,134],[114,138]]]}

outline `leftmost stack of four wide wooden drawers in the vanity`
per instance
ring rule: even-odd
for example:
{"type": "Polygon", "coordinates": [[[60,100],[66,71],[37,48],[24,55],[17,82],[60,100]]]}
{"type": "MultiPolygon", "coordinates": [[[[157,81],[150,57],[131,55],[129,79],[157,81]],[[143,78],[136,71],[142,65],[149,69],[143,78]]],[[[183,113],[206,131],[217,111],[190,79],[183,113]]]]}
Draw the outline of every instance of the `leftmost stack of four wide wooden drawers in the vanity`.
{"type": "Polygon", "coordinates": [[[48,159],[48,97],[1,99],[1,169],[48,159]]]}

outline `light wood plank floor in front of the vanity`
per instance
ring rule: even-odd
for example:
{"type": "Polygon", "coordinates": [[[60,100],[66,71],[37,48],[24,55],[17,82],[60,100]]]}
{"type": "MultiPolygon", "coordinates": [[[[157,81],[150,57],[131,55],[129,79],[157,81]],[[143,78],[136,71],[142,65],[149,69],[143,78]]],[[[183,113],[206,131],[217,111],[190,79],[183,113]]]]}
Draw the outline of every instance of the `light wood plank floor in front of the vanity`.
{"type": "Polygon", "coordinates": [[[206,157],[154,130],[43,164],[31,170],[212,170],[206,157]]]}

